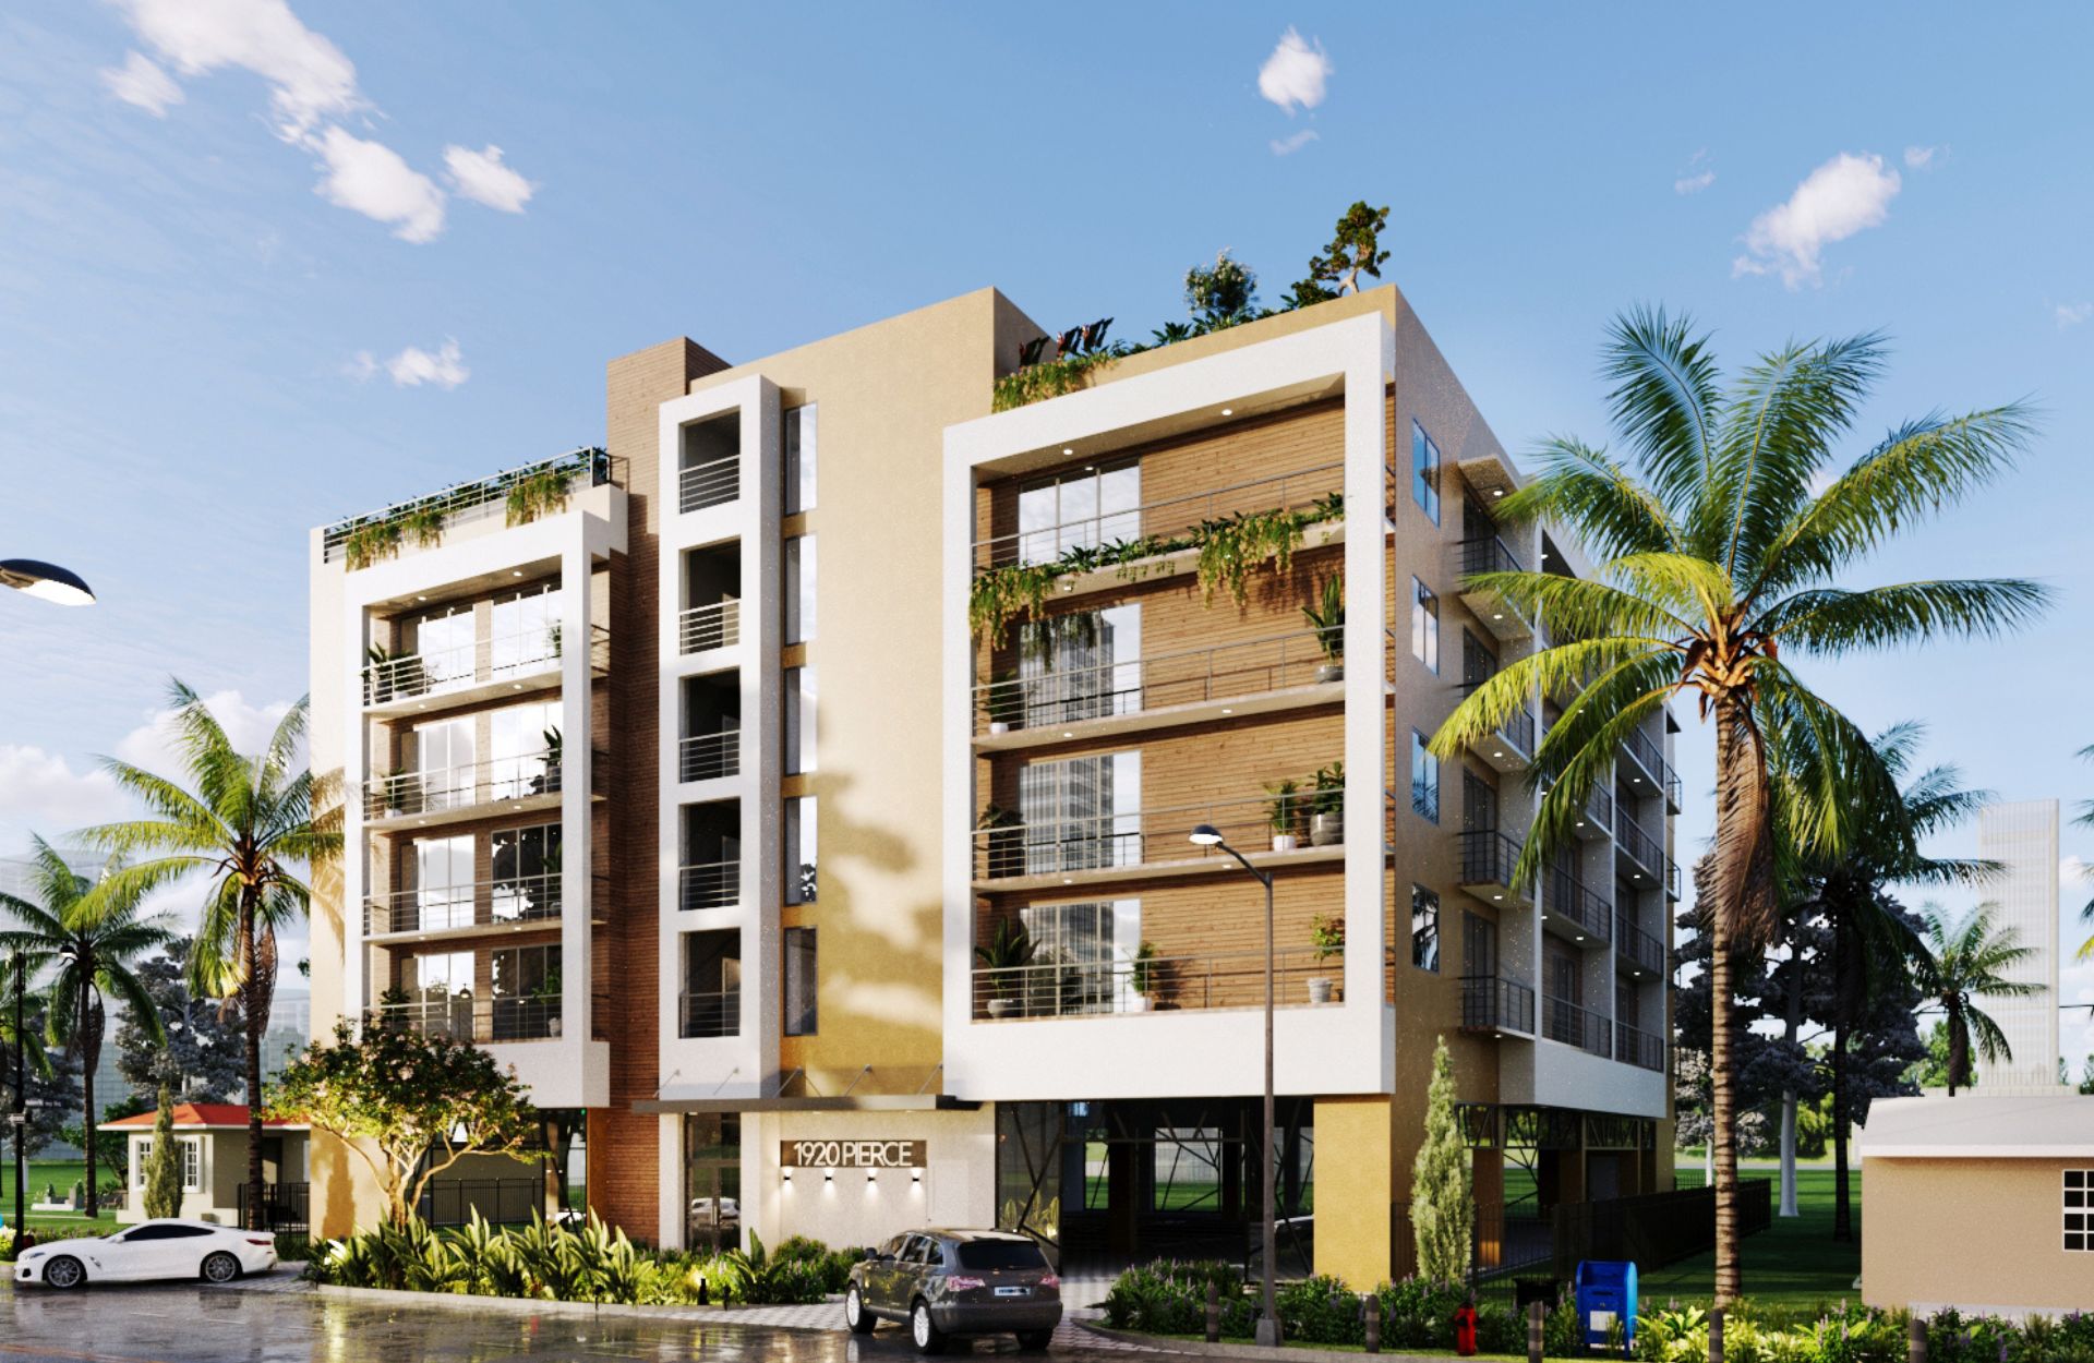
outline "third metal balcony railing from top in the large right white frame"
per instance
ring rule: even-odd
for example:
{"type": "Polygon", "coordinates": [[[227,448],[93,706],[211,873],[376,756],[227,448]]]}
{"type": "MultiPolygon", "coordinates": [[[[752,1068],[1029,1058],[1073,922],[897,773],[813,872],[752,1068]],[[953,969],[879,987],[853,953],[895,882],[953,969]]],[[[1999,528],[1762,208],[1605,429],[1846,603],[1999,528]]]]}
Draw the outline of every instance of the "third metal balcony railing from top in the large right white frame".
{"type": "MultiPolygon", "coordinates": [[[[1288,825],[1298,846],[1342,842],[1342,791],[1302,791],[1290,796],[1288,825]],[[1321,819],[1319,819],[1321,817],[1321,819]],[[1323,831],[1317,831],[1321,821],[1323,831]]],[[[1212,804],[1173,804],[1112,814],[1045,819],[1039,823],[993,823],[974,829],[976,879],[1007,879],[1016,875],[1066,875],[1070,871],[1108,871],[1150,863],[1200,861],[1227,852],[1196,846],[1189,833],[1196,825],[1212,825],[1240,852],[1265,852],[1273,846],[1273,800],[1219,800],[1212,804]]]]}

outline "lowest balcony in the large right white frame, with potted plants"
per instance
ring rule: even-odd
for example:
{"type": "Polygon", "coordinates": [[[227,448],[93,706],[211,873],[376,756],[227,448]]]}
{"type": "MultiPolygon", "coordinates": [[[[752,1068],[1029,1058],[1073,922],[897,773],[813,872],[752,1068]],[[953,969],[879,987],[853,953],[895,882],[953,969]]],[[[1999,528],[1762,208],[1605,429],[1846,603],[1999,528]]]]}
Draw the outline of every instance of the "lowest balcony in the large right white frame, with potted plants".
{"type": "MultiPolygon", "coordinates": [[[[1311,946],[1273,953],[1275,1007],[1336,1003],[1342,984],[1342,951],[1328,957],[1311,946]]],[[[976,1022],[1225,1007],[1265,1007],[1263,951],[1148,961],[1045,961],[974,971],[976,1022]]]]}

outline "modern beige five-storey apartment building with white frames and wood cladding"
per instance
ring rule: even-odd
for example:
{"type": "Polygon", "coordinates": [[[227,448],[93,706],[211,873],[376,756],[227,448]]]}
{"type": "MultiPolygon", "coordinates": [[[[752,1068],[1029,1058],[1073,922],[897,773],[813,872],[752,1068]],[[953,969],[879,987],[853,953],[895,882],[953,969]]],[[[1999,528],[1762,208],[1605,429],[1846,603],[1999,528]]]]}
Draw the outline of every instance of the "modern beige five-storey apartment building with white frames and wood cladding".
{"type": "Polygon", "coordinates": [[[670,341],[601,450],[314,532],[314,1026],[471,1034],[658,1244],[1238,1256],[1265,888],[1204,823],[1273,884],[1290,1263],[1409,1267],[1436,1036],[1483,1200],[1669,1187],[1669,718],[1514,884],[1564,697],[1424,737],[1539,643],[1466,574],[1585,563],[1493,517],[1518,473],[1403,295],[993,410],[1043,335],[980,291],[670,341]]]}

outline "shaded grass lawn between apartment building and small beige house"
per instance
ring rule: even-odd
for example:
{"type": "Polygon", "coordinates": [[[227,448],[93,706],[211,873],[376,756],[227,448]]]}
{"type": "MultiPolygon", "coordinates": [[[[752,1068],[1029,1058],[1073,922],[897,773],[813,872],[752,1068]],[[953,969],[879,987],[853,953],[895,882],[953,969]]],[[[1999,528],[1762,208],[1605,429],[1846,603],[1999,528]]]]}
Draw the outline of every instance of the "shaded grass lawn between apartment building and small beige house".
{"type": "MultiPolygon", "coordinates": [[[[1765,1170],[1740,1170],[1761,1177],[1765,1170]]],[[[1702,1170],[1679,1164],[1679,1187],[1700,1187],[1702,1170]]],[[[1776,1216],[1759,1235],[1746,1235],[1744,1296],[1755,1304],[1799,1315],[1832,1306],[1841,1298],[1859,1300],[1853,1279],[1862,1275],[1862,1177],[1853,1175],[1855,1239],[1832,1239],[1832,1170],[1797,1168],[1797,1210],[1801,1216],[1776,1216]]],[[[1776,1187],[1776,1196],[1780,1189],[1776,1187]]],[[[1646,1302],[1665,1304],[1671,1298],[1707,1304],[1715,1292],[1715,1252],[1698,1254],[1667,1269],[1642,1275],[1638,1283],[1646,1302]]]]}

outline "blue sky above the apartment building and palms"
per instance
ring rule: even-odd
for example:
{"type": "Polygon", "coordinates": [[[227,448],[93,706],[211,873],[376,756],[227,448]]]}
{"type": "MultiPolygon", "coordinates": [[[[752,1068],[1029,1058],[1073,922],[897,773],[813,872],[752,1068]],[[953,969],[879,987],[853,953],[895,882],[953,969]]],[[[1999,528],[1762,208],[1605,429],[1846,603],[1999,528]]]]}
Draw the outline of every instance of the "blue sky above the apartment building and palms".
{"type": "MultiPolygon", "coordinates": [[[[2090,40],[2071,6],[23,0],[0,555],[103,605],[0,601],[0,846],[101,814],[92,754],[147,750],[168,672],[266,722],[306,689],[306,530],[601,440],[609,356],[750,358],[982,285],[1141,335],[1221,247],[1275,299],[1359,197],[1516,454],[1604,435],[1594,350],[1635,301],[1732,360],[1889,331],[1866,431],[2033,394],[2025,471],[1866,576],[2040,576],[2056,628],[1813,672],[1975,783],[2094,794],[2090,40]]],[[[1705,750],[1690,722],[1688,837],[1705,750]]]]}

